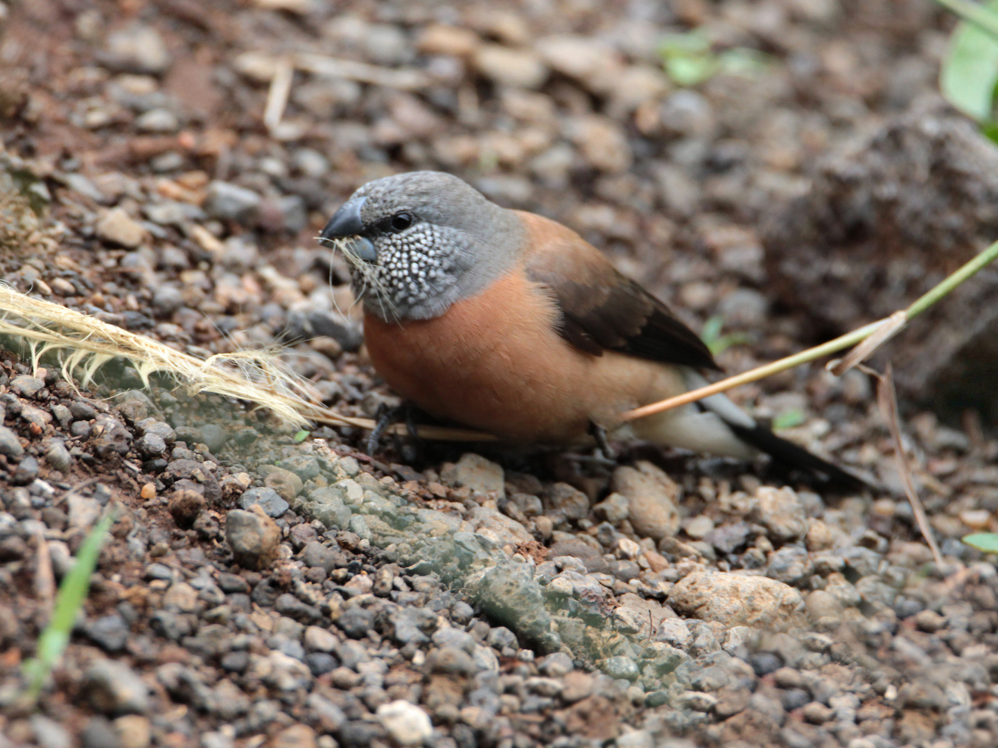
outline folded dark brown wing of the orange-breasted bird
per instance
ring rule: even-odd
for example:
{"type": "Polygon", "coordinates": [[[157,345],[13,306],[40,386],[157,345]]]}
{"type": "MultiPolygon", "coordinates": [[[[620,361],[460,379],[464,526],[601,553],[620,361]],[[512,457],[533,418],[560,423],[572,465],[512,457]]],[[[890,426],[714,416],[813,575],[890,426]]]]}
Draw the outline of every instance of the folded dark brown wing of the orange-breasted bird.
{"type": "Polygon", "coordinates": [[[528,226],[527,276],[549,288],[562,312],[559,333],[594,355],[720,369],[698,335],[662,301],[622,275],[602,252],[569,228],[521,213],[528,226]]]}

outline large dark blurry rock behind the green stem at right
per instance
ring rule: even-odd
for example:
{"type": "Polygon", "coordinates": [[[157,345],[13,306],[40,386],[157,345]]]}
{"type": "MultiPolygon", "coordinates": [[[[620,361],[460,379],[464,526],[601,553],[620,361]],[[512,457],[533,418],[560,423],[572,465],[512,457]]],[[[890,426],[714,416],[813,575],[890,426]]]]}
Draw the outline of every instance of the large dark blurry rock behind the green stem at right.
{"type": "MultiPolygon", "coordinates": [[[[903,309],[996,235],[998,150],[963,117],[917,105],[819,163],[762,231],[772,287],[821,336],[903,309]]],[[[996,296],[985,269],[886,346],[902,394],[998,418],[996,296]]]]}

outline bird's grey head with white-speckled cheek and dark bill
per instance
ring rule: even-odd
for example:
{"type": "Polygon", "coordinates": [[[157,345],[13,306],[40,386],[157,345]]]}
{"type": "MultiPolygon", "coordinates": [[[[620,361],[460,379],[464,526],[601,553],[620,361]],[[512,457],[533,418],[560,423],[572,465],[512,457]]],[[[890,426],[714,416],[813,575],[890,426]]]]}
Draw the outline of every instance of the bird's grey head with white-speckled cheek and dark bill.
{"type": "Polygon", "coordinates": [[[354,292],[385,321],[429,319],[474,295],[516,258],[516,215],[441,172],[369,182],[329,219],[320,239],[347,239],[354,292]]]}

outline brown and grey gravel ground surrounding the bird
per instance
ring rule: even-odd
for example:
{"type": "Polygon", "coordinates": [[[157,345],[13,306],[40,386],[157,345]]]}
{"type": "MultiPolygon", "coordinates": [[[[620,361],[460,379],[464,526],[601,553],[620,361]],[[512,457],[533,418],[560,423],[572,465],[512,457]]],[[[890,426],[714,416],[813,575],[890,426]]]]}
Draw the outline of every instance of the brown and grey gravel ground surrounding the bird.
{"type": "MultiPolygon", "coordinates": [[[[934,94],[951,23],[929,2],[0,8],[3,280],[203,356],[283,344],[349,415],[393,400],[313,237],[367,180],[447,170],[562,220],[696,329],[722,315],[748,343],[720,356],[739,371],[869,312],[809,308],[784,261],[797,239],[859,246],[822,265],[842,284],[856,254],[877,261],[825,236],[865,194],[836,186],[861,175],[890,203],[877,187],[915,178],[870,153],[973,139],[934,94]],[[678,88],[659,45],[694,28],[762,68],[678,88]],[[909,145],[883,145],[899,132],[909,145]]],[[[922,204],[933,239],[978,240],[922,204]]],[[[874,250],[892,209],[864,213],[874,250]]],[[[390,441],[371,459],[349,429],[299,443],[246,404],[144,389],[127,363],[81,392],[20,354],[0,354],[2,746],[998,743],[998,579],[958,541],[998,529],[990,416],[905,410],[937,564],[857,372],[735,393],[882,487],[843,496],[642,445],[615,465],[390,441]],[[26,711],[20,666],[108,511],[26,711]]]]}

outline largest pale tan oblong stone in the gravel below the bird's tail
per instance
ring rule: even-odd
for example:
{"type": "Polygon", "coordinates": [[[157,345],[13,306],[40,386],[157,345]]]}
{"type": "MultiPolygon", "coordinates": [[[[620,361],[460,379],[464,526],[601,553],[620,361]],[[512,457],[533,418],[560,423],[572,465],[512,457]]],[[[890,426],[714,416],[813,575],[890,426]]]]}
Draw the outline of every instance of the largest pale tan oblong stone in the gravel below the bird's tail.
{"type": "Polygon", "coordinates": [[[676,583],[669,605],[691,618],[774,629],[791,624],[803,600],[793,587],[765,576],[695,571],[676,583]]]}

